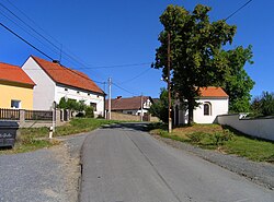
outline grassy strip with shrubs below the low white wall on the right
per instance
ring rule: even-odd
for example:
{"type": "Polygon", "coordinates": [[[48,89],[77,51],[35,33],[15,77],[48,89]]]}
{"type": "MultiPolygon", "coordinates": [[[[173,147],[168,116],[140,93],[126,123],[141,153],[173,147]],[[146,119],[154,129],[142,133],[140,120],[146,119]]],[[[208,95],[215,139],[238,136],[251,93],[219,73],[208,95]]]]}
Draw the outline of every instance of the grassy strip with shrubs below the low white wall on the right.
{"type": "Polygon", "coordinates": [[[202,148],[236,154],[255,162],[274,163],[274,143],[247,136],[219,124],[194,124],[167,132],[167,126],[150,124],[150,133],[197,145],[202,148]]]}

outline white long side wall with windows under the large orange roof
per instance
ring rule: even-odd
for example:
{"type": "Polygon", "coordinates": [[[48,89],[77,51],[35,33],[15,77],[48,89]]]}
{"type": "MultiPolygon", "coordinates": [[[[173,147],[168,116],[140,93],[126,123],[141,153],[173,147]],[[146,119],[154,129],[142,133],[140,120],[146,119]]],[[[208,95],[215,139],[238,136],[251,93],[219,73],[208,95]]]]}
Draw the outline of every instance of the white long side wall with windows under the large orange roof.
{"type": "Polygon", "coordinates": [[[60,85],[57,84],[55,88],[55,102],[58,104],[61,99],[61,97],[67,97],[70,99],[84,100],[84,104],[90,106],[90,103],[96,104],[96,111],[94,111],[94,115],[102,115],[104,112],[104,96],[96,95],[92,92],[79,90],[71,86],[60,85]],[[65,91],[65,88],[67,91],[65,91]],[[79,92],[79,93],[78,93],[79,92]]]}

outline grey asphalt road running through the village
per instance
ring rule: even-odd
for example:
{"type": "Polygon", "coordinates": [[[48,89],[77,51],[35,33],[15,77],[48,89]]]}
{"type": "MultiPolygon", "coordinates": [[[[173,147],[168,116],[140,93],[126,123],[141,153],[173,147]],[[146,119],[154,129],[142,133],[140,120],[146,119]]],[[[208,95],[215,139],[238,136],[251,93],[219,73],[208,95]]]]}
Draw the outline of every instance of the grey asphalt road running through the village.
{"type": "Polygon", "coordinates": [[[274,202],[274,191],[133,124],[89,135],[82,164],[81,202],[274,202]]]}

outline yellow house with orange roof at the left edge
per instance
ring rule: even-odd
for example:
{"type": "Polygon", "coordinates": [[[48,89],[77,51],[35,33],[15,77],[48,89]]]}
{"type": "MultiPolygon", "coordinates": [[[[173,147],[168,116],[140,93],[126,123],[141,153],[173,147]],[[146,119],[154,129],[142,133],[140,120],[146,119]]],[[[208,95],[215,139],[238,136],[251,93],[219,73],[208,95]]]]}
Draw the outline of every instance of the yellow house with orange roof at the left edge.
{"type": "Polygon", "coordinates": [[[20,67],[0,63],[0,108],[33,109],[34,85],[20,67]]]}

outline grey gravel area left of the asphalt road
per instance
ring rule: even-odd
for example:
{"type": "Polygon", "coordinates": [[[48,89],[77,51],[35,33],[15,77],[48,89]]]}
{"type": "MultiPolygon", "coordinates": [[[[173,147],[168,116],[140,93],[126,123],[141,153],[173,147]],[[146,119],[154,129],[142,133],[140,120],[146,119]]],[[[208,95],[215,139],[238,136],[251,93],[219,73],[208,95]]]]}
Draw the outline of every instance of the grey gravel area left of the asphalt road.
{"type": "Polygon", "coordinates": [[[80,151],[85,136],[59,138],[61,144],[50,148],[0,155],[0,201],[78,201],[80,151]]]}

